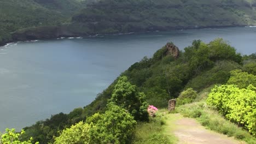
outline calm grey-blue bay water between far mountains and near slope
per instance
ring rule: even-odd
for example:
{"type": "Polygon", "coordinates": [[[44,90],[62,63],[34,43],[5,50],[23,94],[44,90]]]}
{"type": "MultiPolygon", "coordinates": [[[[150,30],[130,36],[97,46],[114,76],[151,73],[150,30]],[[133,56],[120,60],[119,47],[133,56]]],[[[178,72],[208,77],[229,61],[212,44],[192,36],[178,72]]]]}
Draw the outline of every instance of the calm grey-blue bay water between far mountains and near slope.
{"type": "Polygon", "coordinates": [[[20,130],[93,101],[121,72],[172,41],[223,38],[256,52],[256,27],[190,29],[19,42],[0,47],[0,131],[20,130]],[[14,100],[15,99],[15,100],[14,100]]]}

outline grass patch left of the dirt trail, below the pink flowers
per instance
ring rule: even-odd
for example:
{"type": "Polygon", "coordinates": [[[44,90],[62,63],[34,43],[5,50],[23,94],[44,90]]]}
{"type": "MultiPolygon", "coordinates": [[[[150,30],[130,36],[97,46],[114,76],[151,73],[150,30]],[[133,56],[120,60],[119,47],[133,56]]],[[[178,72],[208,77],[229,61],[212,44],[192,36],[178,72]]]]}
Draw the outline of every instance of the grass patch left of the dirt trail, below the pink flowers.
{"type": "Polygon", "coordinates": [[[164,125],[166,117],[161,111],[156,113],[155,118],[150,118],[149,123],[138,123],[133,137],[134,144],[176,143],[176,138],[165,134],[164,125]]]}

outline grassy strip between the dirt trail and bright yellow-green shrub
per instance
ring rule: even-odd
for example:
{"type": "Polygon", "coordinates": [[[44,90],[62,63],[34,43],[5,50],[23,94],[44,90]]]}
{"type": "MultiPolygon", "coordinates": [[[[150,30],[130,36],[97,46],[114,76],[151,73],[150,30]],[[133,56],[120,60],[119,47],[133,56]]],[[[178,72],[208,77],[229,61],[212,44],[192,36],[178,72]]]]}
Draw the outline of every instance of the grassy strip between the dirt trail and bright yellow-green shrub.
{"type": "Polygon", "coordinates": [[[184,117],[196,118],[207,129],[229,137],[235,137],[235,139],[245,141],[248,144],[256,144],[256,138],[249,134],[248,131],[227,121],[212,107],[207,106],[204,101],[179,106],[177,111],[184,117]]]}

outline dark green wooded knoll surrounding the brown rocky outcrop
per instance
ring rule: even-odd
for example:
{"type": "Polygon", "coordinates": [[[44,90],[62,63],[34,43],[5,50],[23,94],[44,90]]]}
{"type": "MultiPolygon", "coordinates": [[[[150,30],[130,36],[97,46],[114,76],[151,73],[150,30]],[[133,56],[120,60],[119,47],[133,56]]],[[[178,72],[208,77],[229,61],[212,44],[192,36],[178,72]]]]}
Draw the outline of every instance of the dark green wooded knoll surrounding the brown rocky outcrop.
{"type": "Polygon", "coordinates": [[[177,98],[184,87],[200,91],[214,83],[225,83],[229,71],[241,67],[240,54],[222,39],[209,44],[194,41],[178,59],[171,55],[159,59],[165,49],[166,46],[162,47],[153,58],[144,58],[123,73],[141,88],[148,103],[156,107],[166,107],[166,101],[177,98]],[[216,53],[221,49],[224,49],[222,55],[216,53]]]}

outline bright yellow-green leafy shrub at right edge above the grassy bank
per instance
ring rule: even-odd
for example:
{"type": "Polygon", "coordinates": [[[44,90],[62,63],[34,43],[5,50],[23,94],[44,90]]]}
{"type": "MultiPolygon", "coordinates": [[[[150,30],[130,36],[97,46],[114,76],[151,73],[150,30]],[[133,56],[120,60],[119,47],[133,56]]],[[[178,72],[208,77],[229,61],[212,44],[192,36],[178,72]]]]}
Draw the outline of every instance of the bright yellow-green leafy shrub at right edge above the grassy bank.
{"type": "Polygon", "coordinates": [[[230,121],[238,123],[256,135],[255,87],[240,89],[236,85],[216,86],[208,95],[207,104],[217,107],[230,121]]]}

